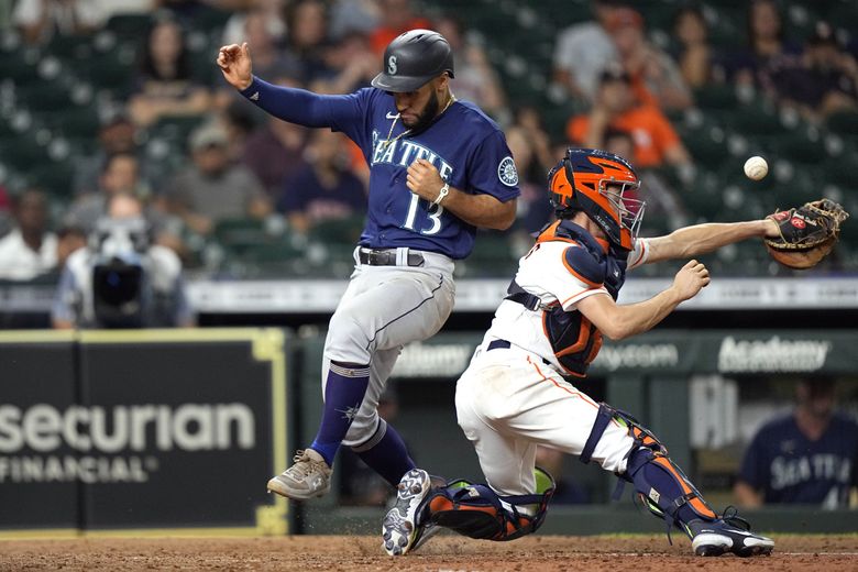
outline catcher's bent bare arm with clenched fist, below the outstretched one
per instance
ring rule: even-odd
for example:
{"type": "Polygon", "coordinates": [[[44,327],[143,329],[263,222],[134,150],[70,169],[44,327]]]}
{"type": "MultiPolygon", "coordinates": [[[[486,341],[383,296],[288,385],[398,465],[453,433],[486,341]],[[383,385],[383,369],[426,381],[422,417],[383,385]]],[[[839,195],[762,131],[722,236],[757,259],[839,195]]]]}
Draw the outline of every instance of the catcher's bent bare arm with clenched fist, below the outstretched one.
{"type": "Polygon", "coordinates": [[[691,261],[676,273],[670,288],[648,300],[619,305],[610,296],[588,296],[578,302],[578,310],[602,333],[612,340],[622,340],[652,329],[708,283],[710,272],[706,266],[691,261]]]}

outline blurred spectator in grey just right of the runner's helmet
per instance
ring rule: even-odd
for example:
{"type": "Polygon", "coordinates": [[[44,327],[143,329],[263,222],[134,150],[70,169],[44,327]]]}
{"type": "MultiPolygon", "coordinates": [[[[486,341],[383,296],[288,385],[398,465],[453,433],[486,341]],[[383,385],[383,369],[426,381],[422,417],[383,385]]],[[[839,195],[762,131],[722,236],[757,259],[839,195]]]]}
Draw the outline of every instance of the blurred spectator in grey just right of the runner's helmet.
{"type": "Polygon", "coordinates": [[[462,22],[453,16],[442,16],[432,30],[444,36],[453,48],[455,78],[450,80],[450,89],[455,97],[473,101],[498,122],[508,123],[504,88],[482,46],[468,41],[462,22]]]}

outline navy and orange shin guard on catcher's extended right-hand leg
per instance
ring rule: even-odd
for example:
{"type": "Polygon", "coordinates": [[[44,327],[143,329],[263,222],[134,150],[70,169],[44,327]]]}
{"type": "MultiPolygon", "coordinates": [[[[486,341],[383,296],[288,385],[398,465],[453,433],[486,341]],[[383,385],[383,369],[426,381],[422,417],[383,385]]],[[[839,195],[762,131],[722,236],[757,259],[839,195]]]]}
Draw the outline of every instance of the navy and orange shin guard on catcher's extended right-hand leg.
{"type": "Polygon", "coordinates": [[[675,525],[689,536],[691,532],[685,524],[690,520],[718,518],[685,473],[671,461],[668,449],[652,435],[652,431],[625,411],[601,404],[593,431],[581,454],[582,461],[590,462],[590,455],[598,438],[612,419],[625,425],[634,439],[631,449],[626,453],[628,459],[626,471],[617,475],[620,481],[617,484],[615,498],[623,493],[624,482],[632,483],[638,498],[650,513],[663,518],[669,529],[675,525]]]}

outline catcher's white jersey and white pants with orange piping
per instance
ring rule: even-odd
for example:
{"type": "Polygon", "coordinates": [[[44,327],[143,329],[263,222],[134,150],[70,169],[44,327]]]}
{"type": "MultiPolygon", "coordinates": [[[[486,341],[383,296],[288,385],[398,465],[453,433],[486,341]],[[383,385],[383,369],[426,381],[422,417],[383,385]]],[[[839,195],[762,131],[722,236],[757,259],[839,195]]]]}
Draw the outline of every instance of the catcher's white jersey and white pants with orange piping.
{"type": "MultiPolygon", "coordinates": [[[[568,264],[566,250],[581,244],[546,241],[538,246],[519,261],[516,283],[544,306],[560,304],[576,311],[575,305],[587,296],[609,295],[603,284],[568,264]]],[[[647,253],[646,240],[636,241],[628,267],[645,263],[647,253]]],[[[455,394],[459,425],[474,444],[487,484],[498,494],[535,492],[537,444],[581,454],[598,404],[561,371],[543,330],[542,311],[504,300],[455,394]],[[495,340],[510,345],[490,351],[495,340]]],[[[607,471],[623,472],[631,446],[627,429],[612,421],[592,459],[607,471]]]]}

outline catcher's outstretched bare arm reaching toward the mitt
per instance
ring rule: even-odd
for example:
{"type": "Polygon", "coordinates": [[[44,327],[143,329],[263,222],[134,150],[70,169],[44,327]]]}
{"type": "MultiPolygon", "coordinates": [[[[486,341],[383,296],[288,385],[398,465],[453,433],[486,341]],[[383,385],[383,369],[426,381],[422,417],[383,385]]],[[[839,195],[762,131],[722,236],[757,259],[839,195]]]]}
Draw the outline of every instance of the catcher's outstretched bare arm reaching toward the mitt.
{"type": "Polygon", "coordinates": [[[648,246],[646,263],[690,258],[734,242],[779,235],[778,224],[770,219],[694,224],[676,229],[664,237],[645,239],[648,246]]]}

